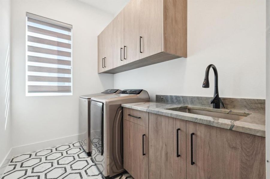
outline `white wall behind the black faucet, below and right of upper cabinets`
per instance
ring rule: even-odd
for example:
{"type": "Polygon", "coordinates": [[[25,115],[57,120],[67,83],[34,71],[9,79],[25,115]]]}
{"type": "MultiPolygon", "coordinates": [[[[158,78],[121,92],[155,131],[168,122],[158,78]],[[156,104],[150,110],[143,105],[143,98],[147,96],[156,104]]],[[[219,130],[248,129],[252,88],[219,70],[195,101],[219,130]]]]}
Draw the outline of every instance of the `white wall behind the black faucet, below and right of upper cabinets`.
{"type": "Polygon", "coordinates": [[[265,98],[266,1],[188,0],[188,58],[114,75],[114,87],[156,94],[212,96],[202,88],[207,65],[218,69],[221,97],[265,98]]]}

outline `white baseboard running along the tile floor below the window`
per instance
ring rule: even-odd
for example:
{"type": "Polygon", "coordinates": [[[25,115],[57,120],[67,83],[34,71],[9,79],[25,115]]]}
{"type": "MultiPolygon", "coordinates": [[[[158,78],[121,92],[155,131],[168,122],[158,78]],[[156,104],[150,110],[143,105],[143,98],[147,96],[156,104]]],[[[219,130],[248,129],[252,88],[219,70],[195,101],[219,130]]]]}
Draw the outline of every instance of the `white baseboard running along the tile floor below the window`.
{"type": "Polygon", "coordinates": [[[3,175],[9,161],[11,160],[13,156],[24,154],[27,152],[34,152],[37,150],[46,149],[48,147],[58,146],[58,145],[62,145],[62,144],[66,144],[66,143],[70,143],[74,141],[79,141],[79,134],[71,135],[71,136],[67,136],[63,138],[52,139],[49,141],[42,141],[42,142],[12,147],[10,151],[8,152],[8,154],[6,155],[5,159],[0,164],[0,178],[3,175]]]}

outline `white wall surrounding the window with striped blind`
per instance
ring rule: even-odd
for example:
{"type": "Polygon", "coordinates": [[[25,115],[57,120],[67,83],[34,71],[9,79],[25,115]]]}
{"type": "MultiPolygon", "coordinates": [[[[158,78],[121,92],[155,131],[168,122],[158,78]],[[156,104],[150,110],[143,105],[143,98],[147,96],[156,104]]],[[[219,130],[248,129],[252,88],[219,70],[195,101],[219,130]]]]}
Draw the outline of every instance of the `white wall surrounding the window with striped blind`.
{"type": "Polygon", "coordinates": [[[79,96],[113,88],[113,75],[97,74],[97,36],[112,18],[80,1],[12,1],[14,147],[77,135],[79,96]],[[25,96],[25,12],[73,25],[72,96],[25,96]]]}

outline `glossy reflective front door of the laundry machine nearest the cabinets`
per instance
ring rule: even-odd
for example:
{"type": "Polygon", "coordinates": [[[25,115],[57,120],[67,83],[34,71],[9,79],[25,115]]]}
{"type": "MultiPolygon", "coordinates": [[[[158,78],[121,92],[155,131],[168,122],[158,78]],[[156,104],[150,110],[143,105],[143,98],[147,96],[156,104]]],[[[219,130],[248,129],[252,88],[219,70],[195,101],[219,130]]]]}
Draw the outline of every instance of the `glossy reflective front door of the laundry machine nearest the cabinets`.
{"type": "Polygon", "coordinates": [[[103,155],[103,103],[97,101],[91,101],[90,108],[91,125],[90,125],[90,136],[93,148],[103,155]]]}

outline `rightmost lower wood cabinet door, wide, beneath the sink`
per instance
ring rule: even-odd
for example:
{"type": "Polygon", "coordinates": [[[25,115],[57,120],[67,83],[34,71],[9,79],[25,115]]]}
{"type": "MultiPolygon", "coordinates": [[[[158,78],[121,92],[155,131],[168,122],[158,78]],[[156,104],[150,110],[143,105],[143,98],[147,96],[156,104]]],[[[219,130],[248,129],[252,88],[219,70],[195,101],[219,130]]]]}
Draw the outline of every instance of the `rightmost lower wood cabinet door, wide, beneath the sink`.
{"type": "Polygon", "coordinates": [[[186,130],[187,179],[266,177],[265,138],[190,121],[186,130]]]}

